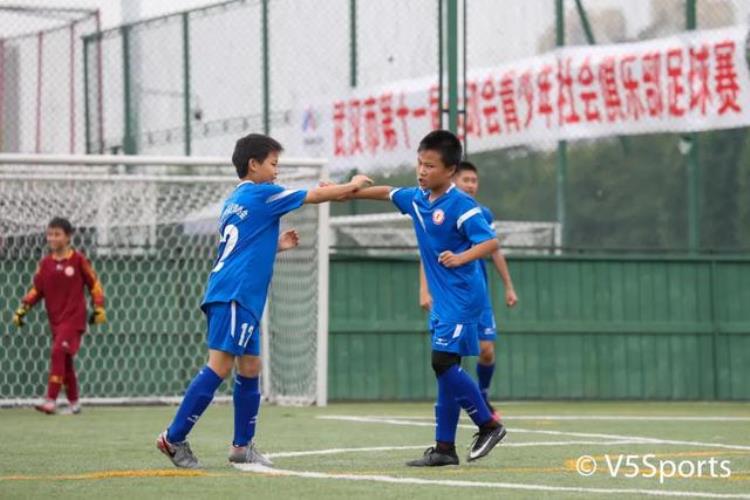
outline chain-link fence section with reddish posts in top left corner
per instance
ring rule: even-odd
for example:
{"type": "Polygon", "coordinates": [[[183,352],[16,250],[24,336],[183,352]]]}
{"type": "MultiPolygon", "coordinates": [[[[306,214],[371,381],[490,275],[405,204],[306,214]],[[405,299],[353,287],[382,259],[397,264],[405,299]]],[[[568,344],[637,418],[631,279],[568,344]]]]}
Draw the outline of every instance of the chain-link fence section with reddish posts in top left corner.
{"type": "Polygon", "coordinates": [[[0,6],[0,151],[83,150],[82,36],[96,11],[0,6]]]}

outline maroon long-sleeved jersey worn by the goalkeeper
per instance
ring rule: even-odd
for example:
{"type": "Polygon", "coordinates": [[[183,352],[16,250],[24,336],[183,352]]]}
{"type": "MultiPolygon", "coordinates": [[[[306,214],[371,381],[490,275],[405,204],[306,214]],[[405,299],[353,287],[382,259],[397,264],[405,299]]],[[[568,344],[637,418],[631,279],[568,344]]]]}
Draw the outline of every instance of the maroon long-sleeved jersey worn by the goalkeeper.
{"type": "Polygon", "coordinates": [[[34,286],[23,298],[23,303],[33,306],[42,298],[53,330],[70,328],[86,329],[87,287],[96,306],[104,306],[102,285],[88,259],[76,250],[71,250],[61,260],[52,254],[41,261],[34,274],[34,286]]]}

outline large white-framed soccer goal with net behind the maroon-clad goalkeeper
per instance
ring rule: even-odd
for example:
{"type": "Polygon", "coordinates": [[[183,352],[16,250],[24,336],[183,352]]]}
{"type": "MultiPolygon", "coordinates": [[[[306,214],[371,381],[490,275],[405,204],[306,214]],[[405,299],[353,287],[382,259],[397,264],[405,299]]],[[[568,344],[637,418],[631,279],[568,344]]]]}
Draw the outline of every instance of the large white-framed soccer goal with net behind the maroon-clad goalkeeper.
{"type": "MultiPolygon", "coordinates": [[[[315,186],[322,161],[283,159],[278,182],[315,186]]],[[[21,329],[10,315],[46,252],[55,216],[103,284],[108,323],[90,327],[76,358],[86,402],[174,401],[206,360],[199,309],[218,244],[223,200],[238,180],[224,158],[0,155],[0,404],[44,393],[50,333],[42,304],[21,329]]],[[[282,219],[299,248],[279,254],[263,318],[264,395],[326,403],[328,205],[282,219]]],[[[230,394],[231,384],[220,389],[230,394]]]]}

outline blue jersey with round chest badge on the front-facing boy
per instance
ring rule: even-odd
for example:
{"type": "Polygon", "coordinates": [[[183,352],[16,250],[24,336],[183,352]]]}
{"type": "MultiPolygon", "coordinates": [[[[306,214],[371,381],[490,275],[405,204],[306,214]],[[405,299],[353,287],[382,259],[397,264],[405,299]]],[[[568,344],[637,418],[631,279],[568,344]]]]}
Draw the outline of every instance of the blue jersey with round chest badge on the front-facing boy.
{"type": "Polygon", "coordinates": [[[432,315],[444,323],[477,323],[487,300],[479,264],[448,268],[438,262],[438,256],[446,250],[464,252],[493,239],[495,232],[477,202],[455,186],[433,202],[429,196],[429,191],[416,187],[391,191],[393,203],[414,223],[433,299],[432,315]]]}

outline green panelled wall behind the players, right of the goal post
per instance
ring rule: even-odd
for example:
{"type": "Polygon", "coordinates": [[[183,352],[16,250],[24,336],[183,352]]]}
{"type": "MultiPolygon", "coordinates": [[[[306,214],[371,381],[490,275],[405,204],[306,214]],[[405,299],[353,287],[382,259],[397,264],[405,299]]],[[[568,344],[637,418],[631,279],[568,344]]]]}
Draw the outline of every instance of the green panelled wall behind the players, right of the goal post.
{"type": "MultiPolygon", "coordinates": [[[[493,397],[750,399],[750,259],[516,257],[493,397]]],[[[329,396],[430,399],[416,262],[331,263],[329,396]]]]}

